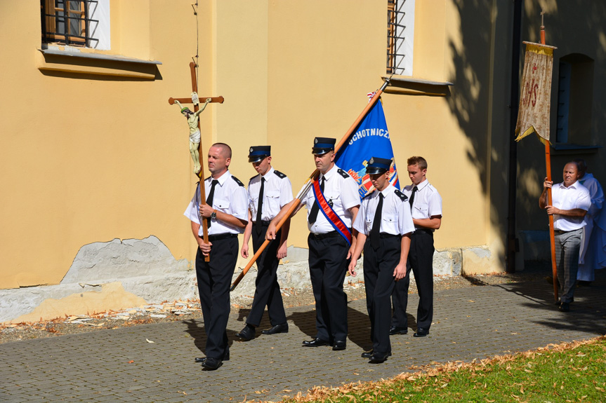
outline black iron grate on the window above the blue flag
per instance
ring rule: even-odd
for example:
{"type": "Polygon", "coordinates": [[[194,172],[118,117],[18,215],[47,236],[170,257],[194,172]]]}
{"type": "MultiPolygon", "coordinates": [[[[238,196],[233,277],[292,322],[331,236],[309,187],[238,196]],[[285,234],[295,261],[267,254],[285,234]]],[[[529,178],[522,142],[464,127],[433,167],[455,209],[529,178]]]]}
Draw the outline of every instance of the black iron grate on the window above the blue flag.
{"type": "Polygon", "coordinates": [[[404,2],[406,0],[388,0],[387,2],[387,74],[405,75],[404,67],[404,2]]]}

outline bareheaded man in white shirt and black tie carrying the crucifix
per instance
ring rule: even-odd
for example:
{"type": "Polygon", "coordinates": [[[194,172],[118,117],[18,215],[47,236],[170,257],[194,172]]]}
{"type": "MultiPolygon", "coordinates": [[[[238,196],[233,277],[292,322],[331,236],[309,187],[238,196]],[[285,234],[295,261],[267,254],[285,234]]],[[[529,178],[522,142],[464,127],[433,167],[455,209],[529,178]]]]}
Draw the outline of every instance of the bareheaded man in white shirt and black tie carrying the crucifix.
{"type": "Polygon", "coordinates": [[[206,357],[196,358],[196,362],[202,362],[202,367],[209,370],[218,369],[230,357],[226,332],[230,285],[238,258],[238,234],[244,231],[248,219],[249,197],[244,184],[228,170],[231,159],[228,144],[211,146],[208,156],[211,176],[204,180],[206,203],[200,203],[198,184],[183,213],[192,221],[192,233],[199,246],[196,275],[206,332],[206,357]],[[209,226],[209,243],[202,238],[202,219],[209,226]],[[204,261],[206,256],[210,261],[204,261]]]}

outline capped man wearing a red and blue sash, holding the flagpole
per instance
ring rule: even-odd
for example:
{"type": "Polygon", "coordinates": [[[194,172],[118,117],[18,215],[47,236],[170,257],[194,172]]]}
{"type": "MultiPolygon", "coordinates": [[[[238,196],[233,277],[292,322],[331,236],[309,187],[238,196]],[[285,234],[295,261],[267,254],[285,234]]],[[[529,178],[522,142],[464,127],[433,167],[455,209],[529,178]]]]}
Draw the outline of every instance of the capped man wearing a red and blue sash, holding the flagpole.
{"type": "MultiPolygon", "coordinates": [[[[347,295],[343,280],[355,247],[351,227],[358,207],[360,193],[357,182],[334,163],[336,139],[315,137],[312,154],[320,172],[312,189],[301,196],[295,214],[303,205],[308,210],[309,266],[316,308],[317,334],[305,347],[332,346],[345,350],[348,334],[347,295]]],[[[275,239],[275,225],[291,203],[272,219],[267,239],[275,239]]],[[[353,234],[355,236],[355,234],[353,234]]]]}

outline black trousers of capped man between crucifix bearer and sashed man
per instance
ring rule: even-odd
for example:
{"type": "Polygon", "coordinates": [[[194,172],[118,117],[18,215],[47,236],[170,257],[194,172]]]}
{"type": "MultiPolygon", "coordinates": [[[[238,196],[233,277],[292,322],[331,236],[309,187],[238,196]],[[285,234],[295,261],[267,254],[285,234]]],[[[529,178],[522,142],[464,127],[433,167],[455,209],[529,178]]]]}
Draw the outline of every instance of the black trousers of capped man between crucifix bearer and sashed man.
{"type": "MultiPolygon", "coordinates": [[[[259,250],[263,242],[265,242],[265,232],[268,226],[263,225],[261,233],[257,234],[253,226],[253,250],[255,253],[259,250]]],[[[261,323],[265,306],[268,307],[268,315],[272,326],[282,325],[286,323],[286,313],[284,312],[284,303],[282,302],[282,294],[280,294],[280,286],[277,280],[277,270],[279,259],[276,257],[280,235],[282,230],[276,234],[276,239],[265,247],[261,256],[258,257],[257,263],[257,279],[255,280],[255,296],[253,306],[249,316],[246,318],[246,323],[253,326],[258,326],[261,323]]]]}

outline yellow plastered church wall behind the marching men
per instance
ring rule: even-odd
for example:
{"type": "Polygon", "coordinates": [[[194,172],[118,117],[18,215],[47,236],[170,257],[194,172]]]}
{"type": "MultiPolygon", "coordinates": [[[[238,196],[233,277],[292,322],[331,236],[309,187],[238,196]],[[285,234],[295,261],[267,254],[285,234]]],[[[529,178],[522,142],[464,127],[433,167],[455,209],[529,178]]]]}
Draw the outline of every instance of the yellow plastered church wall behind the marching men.
{"type": "MultiPolygon", "coordinates": [[[[197,46],[199,95],[225,97],[201,116],[204,155],[212,142],[227,142],[230,170],[246,183],[254,174],[249,146],[271,144],[294,193],[314,169],[312,139],[340,139],[385,75],[386,6],[376,2],[200,1],[198,43],[191,2],[110,7],[112,50],[99,53],[162,62],[154,78],[40,70],[39,1],[0,5],[0,34],[22,33],[5,43],[11,57],[0,59],[8,95],[0,144],[10,150],[0,161],[0,185],[10,189],[0,207],[0,288],[57,284],[83,245],[114,238],[156,235],[176,259],[194,259],[182,215],[196,182],[187,126],[167,100],[190,95],[197,46]]],[[[400,183],[409,184],[406,159],[424,156],[444,199],[436,246],[500,255],[506,204],[494,202],[490,184],[506,167],[493,156],[505,153],[493,139],[506,133],[487,116],[491,80],[503,80],[508,66],[491,67],[489,55],[509,33],[494,32],[485,18],[493,6],[462,7],[416,1],[412,78],[451,81],[448,95],[388,91],[383,107],[400,183]]],[[[306,247],[304,215],[295,217],[289,245],[306,247]]]]}

